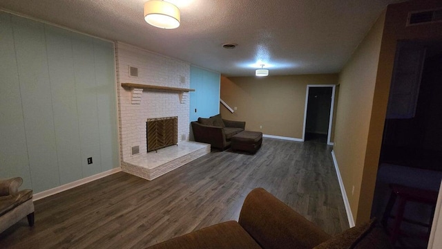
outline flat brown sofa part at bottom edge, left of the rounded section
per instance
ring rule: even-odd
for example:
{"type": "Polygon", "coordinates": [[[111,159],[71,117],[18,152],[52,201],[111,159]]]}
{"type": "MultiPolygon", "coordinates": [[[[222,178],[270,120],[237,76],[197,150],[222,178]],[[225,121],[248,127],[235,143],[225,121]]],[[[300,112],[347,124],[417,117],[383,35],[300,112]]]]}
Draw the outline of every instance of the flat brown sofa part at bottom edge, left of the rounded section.
{"type": "Polygon", "coordinates": [[[169,239],[148,249],[190,248],[260,248],[236,221],[227,221],[202,228],[174,239],[169,239]]]}

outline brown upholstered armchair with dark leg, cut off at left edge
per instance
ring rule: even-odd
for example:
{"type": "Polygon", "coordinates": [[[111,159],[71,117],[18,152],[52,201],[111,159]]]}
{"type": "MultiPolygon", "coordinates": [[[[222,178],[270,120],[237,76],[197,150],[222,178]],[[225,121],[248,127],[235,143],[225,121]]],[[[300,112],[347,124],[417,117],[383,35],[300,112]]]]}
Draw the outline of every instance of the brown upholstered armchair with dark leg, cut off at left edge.
{"type": "Polygon", "coordinates": [[[34,203],[32,190],[21,190],[21,177],[0,180],[0,232],[17,221],[28,217],[30,226],[34,225],[34,203]]]}

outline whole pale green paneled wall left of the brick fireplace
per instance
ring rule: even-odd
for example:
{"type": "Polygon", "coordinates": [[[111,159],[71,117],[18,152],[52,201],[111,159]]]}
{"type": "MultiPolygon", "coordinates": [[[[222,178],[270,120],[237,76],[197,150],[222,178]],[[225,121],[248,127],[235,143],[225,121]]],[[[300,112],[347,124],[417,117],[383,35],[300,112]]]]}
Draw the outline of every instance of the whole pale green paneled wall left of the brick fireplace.
{"type": "Polygon", "coordinates": [[[119,166],[112,42],[0,12],[0,75],[0,178],[37,193],[119,166]]]}

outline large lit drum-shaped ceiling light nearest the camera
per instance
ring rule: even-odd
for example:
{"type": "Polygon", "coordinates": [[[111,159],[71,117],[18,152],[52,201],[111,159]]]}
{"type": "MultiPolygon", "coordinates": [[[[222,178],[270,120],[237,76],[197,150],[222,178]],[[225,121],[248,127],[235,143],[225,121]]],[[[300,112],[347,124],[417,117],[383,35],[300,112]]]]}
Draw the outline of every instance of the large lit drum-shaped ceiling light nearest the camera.
{"type": "Polygon", "coordinates": [[[180,26],[180,9],[162,0],[144,3],[144,20],[157,28],[172,29],[180,26]]]}

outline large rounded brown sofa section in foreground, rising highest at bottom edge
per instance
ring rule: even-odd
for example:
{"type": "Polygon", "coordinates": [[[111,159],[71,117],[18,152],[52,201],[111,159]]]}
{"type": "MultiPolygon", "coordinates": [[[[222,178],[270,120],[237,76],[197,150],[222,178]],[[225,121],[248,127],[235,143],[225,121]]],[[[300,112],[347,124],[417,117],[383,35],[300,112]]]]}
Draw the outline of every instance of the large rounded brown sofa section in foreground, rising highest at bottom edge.
{"type": "Polygon", "coordinates": [[[314,248],[331,238],[262,188],[247,195],[238,222],[266,249],[314,248]]]}

